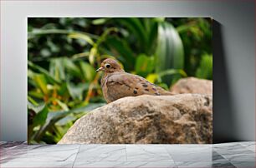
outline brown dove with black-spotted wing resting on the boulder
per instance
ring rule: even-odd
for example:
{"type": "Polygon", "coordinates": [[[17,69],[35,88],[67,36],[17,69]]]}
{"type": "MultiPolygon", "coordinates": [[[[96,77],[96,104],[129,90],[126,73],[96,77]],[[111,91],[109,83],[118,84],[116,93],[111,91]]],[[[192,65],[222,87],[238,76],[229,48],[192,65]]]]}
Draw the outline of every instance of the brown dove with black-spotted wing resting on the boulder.
{"type": "Polygon", "coordinates": [[[114,59],[107,58],[101,62],[96,72],[99,71],[105,72],[100,82],[107,103],[125,96],[173,95],[143,77],[125,72],[114,59]]]}

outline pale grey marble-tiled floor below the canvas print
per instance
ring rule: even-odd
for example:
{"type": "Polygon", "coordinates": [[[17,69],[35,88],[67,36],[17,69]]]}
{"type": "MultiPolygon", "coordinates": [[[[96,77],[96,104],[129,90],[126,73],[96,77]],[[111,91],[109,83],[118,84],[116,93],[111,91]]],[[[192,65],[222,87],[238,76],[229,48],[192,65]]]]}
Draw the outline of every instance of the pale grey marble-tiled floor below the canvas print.
{"type": "Polygon", "coordinates": [[[0,167],[255,167],[255,142],[215,145],[33,145],[1,142],[0,167]]]}

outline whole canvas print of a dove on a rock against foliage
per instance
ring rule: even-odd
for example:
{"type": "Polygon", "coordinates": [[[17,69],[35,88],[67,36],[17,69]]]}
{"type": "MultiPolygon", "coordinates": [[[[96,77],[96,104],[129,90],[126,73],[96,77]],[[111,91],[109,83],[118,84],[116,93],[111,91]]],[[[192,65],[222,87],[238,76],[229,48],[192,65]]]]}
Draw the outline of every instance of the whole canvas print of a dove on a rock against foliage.
{"type": "Polygon", "coordinates": [[[28,143],[212,143],[212,18],[28,17],[28,143]]]}

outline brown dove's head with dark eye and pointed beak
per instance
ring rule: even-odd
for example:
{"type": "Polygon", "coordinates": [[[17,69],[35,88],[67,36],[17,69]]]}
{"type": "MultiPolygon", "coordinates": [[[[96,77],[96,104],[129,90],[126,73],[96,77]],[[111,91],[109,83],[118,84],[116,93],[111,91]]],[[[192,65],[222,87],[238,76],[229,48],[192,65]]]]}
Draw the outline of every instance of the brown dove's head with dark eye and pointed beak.
{"type": "Polygon", "coordinates": [[[101,62],[100,68],[96,70],[96,72],[124,72],[124,70],[120,67],[120,64],[116,62],[114,59],[107,58],[103,62],[101,62]]]}

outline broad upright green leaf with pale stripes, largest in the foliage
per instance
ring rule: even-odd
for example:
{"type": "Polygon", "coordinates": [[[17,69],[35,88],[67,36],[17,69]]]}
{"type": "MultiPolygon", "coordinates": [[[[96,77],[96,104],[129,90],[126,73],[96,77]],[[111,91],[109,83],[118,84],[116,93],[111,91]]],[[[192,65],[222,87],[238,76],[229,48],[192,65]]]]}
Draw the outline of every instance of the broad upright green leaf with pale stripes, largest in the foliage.
{"type": "MultiPolygon", "coordinates": [[[[182,40],[175,27],[169,22],[159,22],[156,47],[156,72],[166,69],[183,69],[184,51],[182,40]]],[[[181,76],[163,77],[163,82],[170,85],[181,76]]]]}

